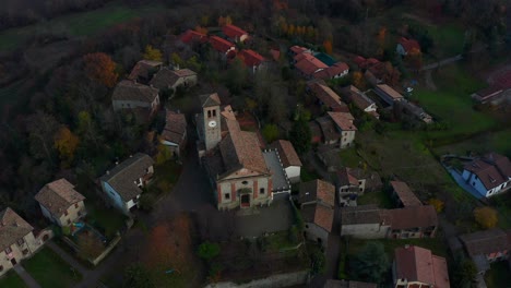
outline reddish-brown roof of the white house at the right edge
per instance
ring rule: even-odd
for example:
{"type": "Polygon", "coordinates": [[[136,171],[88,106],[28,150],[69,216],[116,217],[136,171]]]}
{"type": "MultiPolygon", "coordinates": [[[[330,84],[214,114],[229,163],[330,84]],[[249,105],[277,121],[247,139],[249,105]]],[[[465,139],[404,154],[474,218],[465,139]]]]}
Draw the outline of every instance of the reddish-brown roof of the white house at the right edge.
{"type": "Polygon", "coordinates": [[[511,178],[511,161],[508,157],[497,153],[489,153],[465,165],[480,179],[487,190],[494,189],[511,178]]]}

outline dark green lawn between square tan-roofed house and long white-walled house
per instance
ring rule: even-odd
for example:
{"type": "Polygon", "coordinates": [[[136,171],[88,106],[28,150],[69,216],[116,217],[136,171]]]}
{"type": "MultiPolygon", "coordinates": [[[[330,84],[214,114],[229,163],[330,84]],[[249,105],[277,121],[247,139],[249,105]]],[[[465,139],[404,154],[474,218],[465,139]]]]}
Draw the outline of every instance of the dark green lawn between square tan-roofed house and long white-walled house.
{"type": "Polygon", "coordinates": [[[117,231],[123,228],[126,217],[117,209],[104,208],[88,201],[85,201],[85,206],[87,208],[87,223],[104,233],[107,239],[112,239],[117,231]]]}

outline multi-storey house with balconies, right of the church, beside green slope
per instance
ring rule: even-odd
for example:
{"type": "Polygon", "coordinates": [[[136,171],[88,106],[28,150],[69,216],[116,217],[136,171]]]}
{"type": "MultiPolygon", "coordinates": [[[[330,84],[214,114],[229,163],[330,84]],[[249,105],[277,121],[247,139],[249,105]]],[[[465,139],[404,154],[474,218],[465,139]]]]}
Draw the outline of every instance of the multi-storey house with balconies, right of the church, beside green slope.
{"type": "Polygon", "coordinates": [[[359,168],[341,168],[336,171],[340,205],[346,205],[364,195],[366,191],[379,190],[382,187],[377,172],[364,171],[359,168]]]}

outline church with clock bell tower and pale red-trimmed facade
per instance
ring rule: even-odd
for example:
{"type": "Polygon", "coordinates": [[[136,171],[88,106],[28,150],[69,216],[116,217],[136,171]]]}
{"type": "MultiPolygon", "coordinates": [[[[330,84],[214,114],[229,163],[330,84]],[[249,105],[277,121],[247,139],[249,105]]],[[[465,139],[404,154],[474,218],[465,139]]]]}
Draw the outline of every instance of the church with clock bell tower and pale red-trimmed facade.
{"type": "Polygon", "coordinates": [[[254,132],[242,131],[216,93],[200,96],[198,153],[214,188],[218,209],[270,205],[272,171],[254,132]]]}

